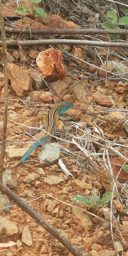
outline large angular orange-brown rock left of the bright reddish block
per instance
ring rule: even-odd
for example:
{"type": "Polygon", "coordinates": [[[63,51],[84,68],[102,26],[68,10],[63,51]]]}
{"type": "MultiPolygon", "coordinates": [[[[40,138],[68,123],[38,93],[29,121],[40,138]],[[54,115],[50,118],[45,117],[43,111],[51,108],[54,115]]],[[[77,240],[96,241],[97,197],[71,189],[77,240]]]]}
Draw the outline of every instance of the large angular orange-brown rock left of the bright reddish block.
{"type": "Polygon", "coordinates": [[[12,89],[18,96],[27,95],[29,91],[32,91],[32,79],[29,71],[20,69],[11,63],[8,69],[8,78],[11,81],[12,89]]]}

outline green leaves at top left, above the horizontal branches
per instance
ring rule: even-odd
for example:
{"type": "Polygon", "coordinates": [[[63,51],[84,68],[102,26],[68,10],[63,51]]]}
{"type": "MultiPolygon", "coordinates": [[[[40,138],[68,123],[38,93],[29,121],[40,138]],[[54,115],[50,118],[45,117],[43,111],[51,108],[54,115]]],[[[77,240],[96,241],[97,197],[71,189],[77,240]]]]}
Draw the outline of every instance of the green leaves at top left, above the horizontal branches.
{"type": "MultiPolygon", "coordinates": [[[[37,5],[38,3],[41,2],[41,0],[31,0],[31,2],[33,2],[37,5]]],[[[34,12],[35,17],[42,16],[43,18],[46,18],[47,14],[46,14],[46,12],[44,12],[44,9],[42,9],[40,7],[33,7],[33,9],[35,10],[35,12],[34,12]]],[[[18,14],[20,14],[20,15],[25,15],[25,14],[31,13],[29,8],[27,8],[26,6],[17,7],[15,11],[18,12],[18,14]]]]}

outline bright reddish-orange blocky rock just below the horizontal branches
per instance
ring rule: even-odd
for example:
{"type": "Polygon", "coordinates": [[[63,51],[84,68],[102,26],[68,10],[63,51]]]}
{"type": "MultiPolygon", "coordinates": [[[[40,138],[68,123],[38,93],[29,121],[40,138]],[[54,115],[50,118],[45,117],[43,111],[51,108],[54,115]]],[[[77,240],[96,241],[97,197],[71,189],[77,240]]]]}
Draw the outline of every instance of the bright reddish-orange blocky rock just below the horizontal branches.
{"type": "Polygon", "coordinates": [[[39,71],[46,80],[56,81],[64,78],[66,75],[63,56],[60,50],[49,48],[44,52],[40,52],[37,56],[36,63],[39,71]]]}

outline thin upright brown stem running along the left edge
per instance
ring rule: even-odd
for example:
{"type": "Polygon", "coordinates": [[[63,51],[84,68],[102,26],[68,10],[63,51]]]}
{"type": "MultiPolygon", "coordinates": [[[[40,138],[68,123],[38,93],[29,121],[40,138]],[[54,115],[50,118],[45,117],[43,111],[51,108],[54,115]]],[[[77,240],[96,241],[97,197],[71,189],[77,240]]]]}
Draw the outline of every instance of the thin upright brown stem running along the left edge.
{"type": "Polygon", "coordinates": [[[6,38],[5,38],[5,31],[4,31],[2,0],[0,0],[0,25],[1,25],[1,38],[2,38],[1,45],[3,48],[3,61],[4,61],[4,123],[3,123],[3,138],[2,138],[1,155],[0,155],[0,184],[2,184],[6,130],[7,130],[7,111],[8,111],[7,48],[6,48],[6,38]]]}

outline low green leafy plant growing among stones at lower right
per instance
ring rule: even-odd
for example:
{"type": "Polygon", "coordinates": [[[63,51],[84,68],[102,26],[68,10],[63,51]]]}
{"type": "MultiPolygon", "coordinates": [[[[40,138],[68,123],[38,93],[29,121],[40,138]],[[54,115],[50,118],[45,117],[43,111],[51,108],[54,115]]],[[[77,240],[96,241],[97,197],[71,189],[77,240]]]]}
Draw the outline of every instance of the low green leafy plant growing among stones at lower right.
{"type": "MultiPolygon", "coordinates": [[[[118,193],[114,193],[113,196],[119,195],[118,193]]],[[[94,210],[97,210],[99,207],[105,207],[108,205],[109,201],[112,198],[112,192],[106,192],[103,194],[103,198],[99,199],[99,196],[80,196],[80,195],[74,195],[72,196],[72,199],[76,203],[83,203],[86,206],[90,206],[94,210]]]]}

